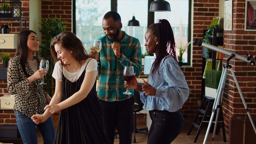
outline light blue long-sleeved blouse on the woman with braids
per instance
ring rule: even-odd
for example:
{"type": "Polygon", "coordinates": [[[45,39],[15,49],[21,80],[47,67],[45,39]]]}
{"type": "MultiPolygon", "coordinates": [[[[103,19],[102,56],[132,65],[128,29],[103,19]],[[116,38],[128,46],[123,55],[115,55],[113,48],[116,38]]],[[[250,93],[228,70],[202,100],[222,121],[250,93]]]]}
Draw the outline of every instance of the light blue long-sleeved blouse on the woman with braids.
{"type": "Polygon", "coordinates": [[[189,86],[178,63],[172,56],[161,61],[160,73],[149,74],[147,82],[156,88],[156,95],[146,96],[140,92],[145,110],[178,111],[189,97],[189,86]]]}

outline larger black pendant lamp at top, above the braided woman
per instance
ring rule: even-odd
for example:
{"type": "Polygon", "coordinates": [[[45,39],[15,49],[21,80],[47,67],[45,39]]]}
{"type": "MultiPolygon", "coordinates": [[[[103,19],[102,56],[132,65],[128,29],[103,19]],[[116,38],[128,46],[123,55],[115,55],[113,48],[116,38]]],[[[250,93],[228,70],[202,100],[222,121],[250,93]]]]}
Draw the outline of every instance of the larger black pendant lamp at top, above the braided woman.
{"type": "Polygon", "coordinates": [[[169,2],[165,0],[155,0],[154,2],[151,2],[149,11],[150,12],[170,12],[171,7],[169,2]]]}

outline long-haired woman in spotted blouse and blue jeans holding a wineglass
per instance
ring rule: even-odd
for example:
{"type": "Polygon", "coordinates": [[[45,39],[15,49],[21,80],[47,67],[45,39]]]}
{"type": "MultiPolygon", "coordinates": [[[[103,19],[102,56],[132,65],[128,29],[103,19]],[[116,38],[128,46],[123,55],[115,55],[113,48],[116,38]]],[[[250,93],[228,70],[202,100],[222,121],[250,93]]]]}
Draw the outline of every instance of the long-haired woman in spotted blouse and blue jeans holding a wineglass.
{"type": "Polygon", "coordinates": [[[25,30],[19,34],[16,56],[9,60],[7,69],[7,88],[14,97],[16,122],[24,144],[37,144],[35,126],[42,134],[44,144],[54,142],[55,130],[51,117],[44,123],[35,124],[30,118],[33,114],[43,114],[44,107],[51,98],[39,83],[47,74],[39,69],[41,58],[38,52],[37,34],[25,30]]]}

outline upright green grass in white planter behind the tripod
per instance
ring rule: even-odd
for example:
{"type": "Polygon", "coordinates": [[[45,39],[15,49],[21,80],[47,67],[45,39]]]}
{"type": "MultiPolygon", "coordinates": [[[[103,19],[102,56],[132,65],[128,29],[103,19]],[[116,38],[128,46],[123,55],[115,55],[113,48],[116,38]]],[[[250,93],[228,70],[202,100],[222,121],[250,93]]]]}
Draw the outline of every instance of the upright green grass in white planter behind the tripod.
{"type": "Polygon", "coordinates": [[[220,70],[206,70],[205,71],[205,86],[209,88],[217,89],[219,86],[219,81],[221,79],[220,70]]]}

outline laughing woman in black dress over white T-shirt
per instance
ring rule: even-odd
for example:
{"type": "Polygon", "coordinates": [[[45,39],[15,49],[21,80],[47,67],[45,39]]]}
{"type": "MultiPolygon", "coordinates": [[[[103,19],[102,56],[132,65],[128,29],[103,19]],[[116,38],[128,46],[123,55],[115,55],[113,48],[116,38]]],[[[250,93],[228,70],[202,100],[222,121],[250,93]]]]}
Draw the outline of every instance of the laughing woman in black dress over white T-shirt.
{"type": "Polygon", "coordinates": [[[52,74],[55,93],[44,114],[33,115],[33,121],[42,123],[60,111],[54,144],[108,144],[96,95],[96,60],[67,31],[52,39],[51,55],[57,61],[52,74]]]}

